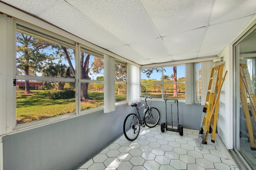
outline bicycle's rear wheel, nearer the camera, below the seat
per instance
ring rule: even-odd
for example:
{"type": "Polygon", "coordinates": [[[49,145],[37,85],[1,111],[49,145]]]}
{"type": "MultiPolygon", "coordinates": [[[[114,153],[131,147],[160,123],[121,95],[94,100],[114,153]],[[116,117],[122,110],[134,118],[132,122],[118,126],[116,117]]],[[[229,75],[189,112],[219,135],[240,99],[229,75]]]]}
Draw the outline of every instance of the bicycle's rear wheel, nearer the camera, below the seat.
{"type": "Polygon", "coordinates": [[[124,136],[126,139],[133,141],[140,133],[140,122],[136,114],[130,113],[124,119],[124,136]]]}

